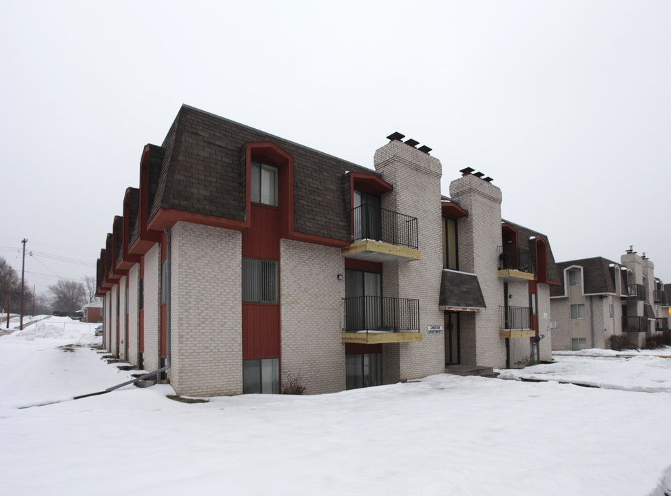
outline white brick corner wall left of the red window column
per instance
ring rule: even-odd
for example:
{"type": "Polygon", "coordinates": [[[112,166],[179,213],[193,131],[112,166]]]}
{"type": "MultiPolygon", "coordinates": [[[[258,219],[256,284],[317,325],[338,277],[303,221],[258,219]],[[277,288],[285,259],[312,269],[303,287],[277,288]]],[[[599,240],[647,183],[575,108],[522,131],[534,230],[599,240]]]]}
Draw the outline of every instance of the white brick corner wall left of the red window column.
{"type": "Polygon", "coordinates": [[[239,231],[184,222],[172,229],[168,378],[178,394],[242,393],[241,253],[239,231]]]}

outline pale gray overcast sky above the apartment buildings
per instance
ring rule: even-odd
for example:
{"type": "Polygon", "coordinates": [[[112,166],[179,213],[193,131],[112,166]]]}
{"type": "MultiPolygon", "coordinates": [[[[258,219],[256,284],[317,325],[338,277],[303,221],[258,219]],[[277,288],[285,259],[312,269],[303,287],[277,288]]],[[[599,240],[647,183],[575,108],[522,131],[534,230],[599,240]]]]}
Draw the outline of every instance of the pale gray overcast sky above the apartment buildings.
{"type": "Polygon", "coordinates": [[[20,269],[28,238],[38,293],[93,276],[187,103],[367,167],[402,132],[445,195],[493,177],[557,261],[634,245],[671,282],[670,27],[646,0],[4,0],[0,255],[20,269]]]}

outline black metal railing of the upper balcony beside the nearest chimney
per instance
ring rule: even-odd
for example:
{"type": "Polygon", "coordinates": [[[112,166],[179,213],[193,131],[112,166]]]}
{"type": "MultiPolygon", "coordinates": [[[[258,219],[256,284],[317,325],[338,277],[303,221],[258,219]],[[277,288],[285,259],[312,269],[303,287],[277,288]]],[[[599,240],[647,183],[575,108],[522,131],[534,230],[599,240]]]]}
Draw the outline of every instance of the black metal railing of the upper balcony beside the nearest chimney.
{"type": "Polygon", "coordinates": [[[354,241],[371,239],[417,249],[417,218],[375,205],[352,210],[354,241]]]}

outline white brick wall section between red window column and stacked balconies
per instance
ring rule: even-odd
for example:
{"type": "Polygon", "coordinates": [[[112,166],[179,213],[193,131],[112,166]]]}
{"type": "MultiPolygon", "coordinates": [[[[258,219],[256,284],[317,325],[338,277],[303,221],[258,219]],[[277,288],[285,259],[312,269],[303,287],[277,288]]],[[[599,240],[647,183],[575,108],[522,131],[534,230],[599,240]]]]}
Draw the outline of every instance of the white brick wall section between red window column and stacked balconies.
{"type": "Polygon", "coordinates": [[[344,259],[340,249],[280,240],[282,383],[306,378],[307,394],[345,389],[344,259]]]}

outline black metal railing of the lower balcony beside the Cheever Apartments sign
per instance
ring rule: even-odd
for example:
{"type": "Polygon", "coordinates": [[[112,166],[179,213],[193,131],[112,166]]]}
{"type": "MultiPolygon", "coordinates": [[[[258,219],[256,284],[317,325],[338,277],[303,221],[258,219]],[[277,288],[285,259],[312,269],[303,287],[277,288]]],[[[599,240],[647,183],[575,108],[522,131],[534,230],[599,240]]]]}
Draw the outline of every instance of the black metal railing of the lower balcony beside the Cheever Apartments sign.
{"type": "Polygon", "coordinates": [[[420,300],[356,296],[344,302],[345,332],[420,331],[420,300]]]}

